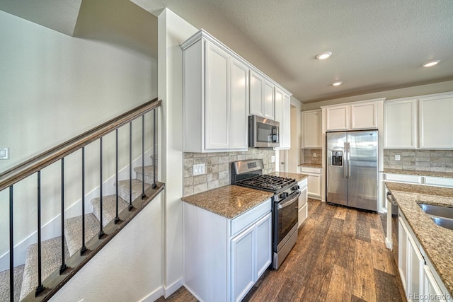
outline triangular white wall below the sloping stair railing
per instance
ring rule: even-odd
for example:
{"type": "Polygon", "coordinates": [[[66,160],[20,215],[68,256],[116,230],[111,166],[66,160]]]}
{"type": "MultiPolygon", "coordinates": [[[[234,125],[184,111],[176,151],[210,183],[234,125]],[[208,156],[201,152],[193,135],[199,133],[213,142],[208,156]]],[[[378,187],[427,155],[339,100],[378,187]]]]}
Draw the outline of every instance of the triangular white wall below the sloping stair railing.
{"type": "Polygon", "coordinates": [[[164,192],[50,301],[155,301],[162,296],[164,192]]]}

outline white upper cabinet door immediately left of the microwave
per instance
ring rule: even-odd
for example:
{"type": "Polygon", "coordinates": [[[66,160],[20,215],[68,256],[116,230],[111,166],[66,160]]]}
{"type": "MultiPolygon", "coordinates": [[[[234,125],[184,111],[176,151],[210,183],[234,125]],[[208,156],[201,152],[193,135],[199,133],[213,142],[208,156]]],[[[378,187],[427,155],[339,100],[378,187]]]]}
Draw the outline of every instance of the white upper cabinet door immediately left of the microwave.
{"type": "Polygon", "coordinates": [[[248,149],[248,67],[231,58],[231,150],[248,149]]]}

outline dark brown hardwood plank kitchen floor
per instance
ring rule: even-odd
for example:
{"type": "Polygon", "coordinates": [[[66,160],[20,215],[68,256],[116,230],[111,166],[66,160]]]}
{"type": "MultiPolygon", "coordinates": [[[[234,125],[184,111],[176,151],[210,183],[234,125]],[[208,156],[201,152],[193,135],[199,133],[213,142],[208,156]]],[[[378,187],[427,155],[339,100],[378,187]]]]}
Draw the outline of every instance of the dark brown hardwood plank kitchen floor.
{"type": "MultiPolygon", "coordinates": [[[[277,271],[243,301],[406,301],[382,216],[309,199],[309,218],[277,271]]],[[[196,301],[182,287],[166,300],[196,301]]]]}

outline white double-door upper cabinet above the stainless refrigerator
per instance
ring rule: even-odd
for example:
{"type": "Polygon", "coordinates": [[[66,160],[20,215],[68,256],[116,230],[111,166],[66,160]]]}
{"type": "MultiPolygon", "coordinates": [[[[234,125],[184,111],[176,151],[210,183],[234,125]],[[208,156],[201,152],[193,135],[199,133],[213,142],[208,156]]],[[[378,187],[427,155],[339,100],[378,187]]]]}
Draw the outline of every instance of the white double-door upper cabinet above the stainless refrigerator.
{"type": "Polygon", "coordinates": [[[384,98],[343,105],[324,106],[326,131],[377,129],[377,103],[384,98]]]}

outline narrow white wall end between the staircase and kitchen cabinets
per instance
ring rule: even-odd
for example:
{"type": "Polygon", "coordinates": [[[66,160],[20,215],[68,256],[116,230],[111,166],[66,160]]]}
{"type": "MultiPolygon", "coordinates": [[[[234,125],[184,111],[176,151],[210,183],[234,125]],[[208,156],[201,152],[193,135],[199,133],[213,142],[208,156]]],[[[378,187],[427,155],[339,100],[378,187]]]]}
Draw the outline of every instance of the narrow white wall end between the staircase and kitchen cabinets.
{"type": "Polygon", "coordinates": [[[159,99],[163,106],[159,164],[161,180],[166,183],[166,297],[183,285],[183,52],[179,45],[196,32],[197,28],[168,8],[159,16],[159,99]]]}

